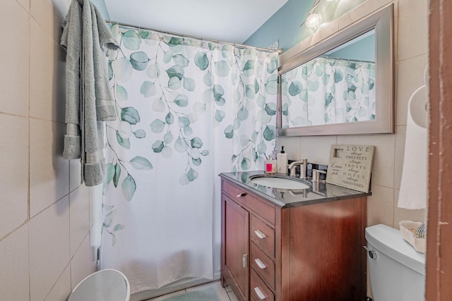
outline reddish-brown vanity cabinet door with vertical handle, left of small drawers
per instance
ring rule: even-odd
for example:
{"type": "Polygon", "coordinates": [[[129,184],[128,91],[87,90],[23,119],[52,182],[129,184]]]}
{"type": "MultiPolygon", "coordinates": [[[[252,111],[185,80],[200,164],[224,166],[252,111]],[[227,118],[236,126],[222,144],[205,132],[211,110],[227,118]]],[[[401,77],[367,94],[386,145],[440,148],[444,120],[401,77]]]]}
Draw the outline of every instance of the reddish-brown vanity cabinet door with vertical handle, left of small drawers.
{"type": "Polygon", "coordinates": [[[239,300],[249,296],[249,212],[229,197],[224,204],[224,266],[223,273],[239,300]],[[230,279],[228,279],[230,278],[230,279]]]}

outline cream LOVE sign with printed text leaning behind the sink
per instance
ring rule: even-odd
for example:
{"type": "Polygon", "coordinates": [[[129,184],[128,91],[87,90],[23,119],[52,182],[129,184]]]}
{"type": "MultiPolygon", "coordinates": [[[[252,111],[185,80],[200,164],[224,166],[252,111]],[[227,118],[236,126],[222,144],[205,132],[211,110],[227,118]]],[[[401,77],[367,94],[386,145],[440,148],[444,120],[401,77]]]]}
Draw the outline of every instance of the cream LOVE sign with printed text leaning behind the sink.
{"type": "Polygon", "coordinates": [[[331,145],[326,183],[369,192],[373,145],[331,145]]]}

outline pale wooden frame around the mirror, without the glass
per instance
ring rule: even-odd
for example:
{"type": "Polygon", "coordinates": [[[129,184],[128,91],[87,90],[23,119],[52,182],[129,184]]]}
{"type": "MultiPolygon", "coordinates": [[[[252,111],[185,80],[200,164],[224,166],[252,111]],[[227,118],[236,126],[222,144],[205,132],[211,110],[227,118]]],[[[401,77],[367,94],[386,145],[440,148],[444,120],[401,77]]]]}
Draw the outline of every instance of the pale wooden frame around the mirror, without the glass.
{"type": "MultiPolygon", "coordinates": [[[[375,28],[375,115],[373,121],[357,121],[353,123],[335,123],[328,125],[312,125],[297,128],[282,128],[281,84],[278,93],[278,135],[279,136],[319,136],[319,135],[360,135],[377,133],[394,133],[394,61],[393,61],[393,4],[390,4],[370,16],[345,27],[335,35],[324,39],[305,51],[285,59],[280,56],[280,76],[302,63],[310,61],[345,42],[375,28]]],[[[325,28],[328,30],[328,27],[325,28]]],[[[297,47],[297,46],[295,46],[297,47]]],[[[292,47],[293,49],[293,47],[292,47]]],[[[287,53],[293,52],[289,49],[287,53]]]]}

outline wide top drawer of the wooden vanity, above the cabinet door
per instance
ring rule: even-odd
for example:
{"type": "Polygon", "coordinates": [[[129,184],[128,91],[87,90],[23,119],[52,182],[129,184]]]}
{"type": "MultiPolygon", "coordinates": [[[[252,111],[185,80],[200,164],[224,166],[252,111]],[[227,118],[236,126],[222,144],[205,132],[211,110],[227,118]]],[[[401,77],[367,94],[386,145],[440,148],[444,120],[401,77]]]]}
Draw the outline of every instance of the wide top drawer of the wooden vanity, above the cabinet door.
{"type": "Polygon", "coordinates": [[[223,181],[223,190],[236,202],[244,204],[246,207],[262,216],[263,219],[266,219],[273,225],[275,224],[274,205],[272,206],[268,202],[257,199],[253,195],[250,195],[249,192],[246,192],[242,188],[238,188],[227,181],[223,181]]]}

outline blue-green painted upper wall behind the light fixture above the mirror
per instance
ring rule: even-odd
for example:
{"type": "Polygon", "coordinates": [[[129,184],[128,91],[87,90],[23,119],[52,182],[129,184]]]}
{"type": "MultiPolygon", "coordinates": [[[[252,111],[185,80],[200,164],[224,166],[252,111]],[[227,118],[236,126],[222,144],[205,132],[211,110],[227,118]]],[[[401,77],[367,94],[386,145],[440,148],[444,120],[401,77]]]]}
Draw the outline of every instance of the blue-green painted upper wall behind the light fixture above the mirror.
{"type": "MultiPolygon", "coordinates": [[[[323,22],[331,22],[352,10],[367,0],[320,0],[314,9],[320,13],[323,22]]],[[[279,40],[279,48],[286,51],[315,31],[300,25],[306,20],[314,0],[289,0],[254,32],[243,44],[255,47],[269,47],[279,40]]]]}

